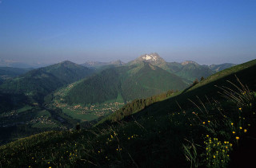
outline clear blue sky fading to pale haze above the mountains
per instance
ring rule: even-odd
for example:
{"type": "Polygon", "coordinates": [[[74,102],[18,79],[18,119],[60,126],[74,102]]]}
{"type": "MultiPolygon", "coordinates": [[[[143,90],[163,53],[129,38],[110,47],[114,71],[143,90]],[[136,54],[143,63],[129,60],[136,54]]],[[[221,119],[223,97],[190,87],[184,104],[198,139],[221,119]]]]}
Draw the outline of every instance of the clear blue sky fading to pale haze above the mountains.
{"type": "Polygon", "coordinates": [[[0,0],[0,58],[46,64],[256,58],[255,0],[0,0]]]}

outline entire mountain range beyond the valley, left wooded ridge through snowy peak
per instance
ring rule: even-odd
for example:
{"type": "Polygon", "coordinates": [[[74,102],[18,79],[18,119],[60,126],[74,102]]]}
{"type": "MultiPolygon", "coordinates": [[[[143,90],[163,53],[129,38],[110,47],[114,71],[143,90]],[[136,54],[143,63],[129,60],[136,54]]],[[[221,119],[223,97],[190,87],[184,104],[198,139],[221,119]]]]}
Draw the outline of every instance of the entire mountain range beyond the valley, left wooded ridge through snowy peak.
{"type": "MultiPolygon", "coordinates": [[[[14,61],[4,61],[9,65],[14,61]]],[[[62,99],[67,104],[95,104],[109,100],[128,102],[146,98],[167,90],[181,90],[195,79],[207,77],[234,64],[200,65],[194,61],[166,62],[158,53],[144,54],[134,61],[123,63],[86,62],[79,65],[70,61],[44,68],[0,68],[0,91],[24,94],[36,102],[56,89],[71,84],[62,99]],[[93,76],[90,76],[97,70],[93,76]],[[16,77],[17,76],[17,77],[16,77]],[[86,76],[89,78],[84,79],[86,76]],[[11,79],[13,80],[6,80],[11,79]],[[82,80],[83,79],[83,80],[82,80]],[[6,81],[4,81],[6,80],[6,81]]]]}

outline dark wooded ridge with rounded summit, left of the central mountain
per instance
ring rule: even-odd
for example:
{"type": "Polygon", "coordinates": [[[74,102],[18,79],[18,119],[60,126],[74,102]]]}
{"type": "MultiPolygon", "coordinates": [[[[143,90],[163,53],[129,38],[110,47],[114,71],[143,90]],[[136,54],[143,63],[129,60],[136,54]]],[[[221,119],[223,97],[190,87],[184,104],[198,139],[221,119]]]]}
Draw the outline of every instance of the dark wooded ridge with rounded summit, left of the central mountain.
{"type": "Polygon", "coordinates": [[[89,76],[92,70],[82,65],[64,61],[44,68],[34,69],[0,85],[2,92],[30,96],[42,103],[44,96],[55,89],[89,76]]]}

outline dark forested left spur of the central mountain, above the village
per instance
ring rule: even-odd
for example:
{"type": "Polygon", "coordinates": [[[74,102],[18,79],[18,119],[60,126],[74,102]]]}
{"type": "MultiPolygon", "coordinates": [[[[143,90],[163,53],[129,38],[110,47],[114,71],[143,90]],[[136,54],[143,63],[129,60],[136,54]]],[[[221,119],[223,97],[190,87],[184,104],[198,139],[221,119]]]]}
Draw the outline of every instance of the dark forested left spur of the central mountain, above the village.
{"type": "Polygon", "coordinates": [[[108,68],[94,76],[74,84],[64,99],[67,104],[96,104],[113,100],[121,91],[122,68],[108,68]]]}

